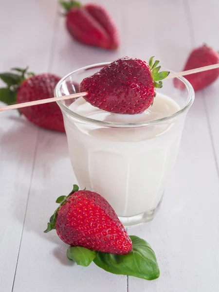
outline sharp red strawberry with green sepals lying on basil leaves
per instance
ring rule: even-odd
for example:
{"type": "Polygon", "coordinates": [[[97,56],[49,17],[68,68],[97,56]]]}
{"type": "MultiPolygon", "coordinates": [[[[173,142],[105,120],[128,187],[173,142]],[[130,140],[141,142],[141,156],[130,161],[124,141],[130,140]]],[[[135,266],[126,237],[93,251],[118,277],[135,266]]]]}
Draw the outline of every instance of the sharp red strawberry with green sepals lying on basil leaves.
{"type": "Polygon", "coordinates": [[[56,229],[57,235],[71,246],[93,251],[126,255],[132,249],[131,239],[115,211],[102,196],[91,191],[73,191],[59,197],[60,206],[50,218],[44,232],[56,229]]]}

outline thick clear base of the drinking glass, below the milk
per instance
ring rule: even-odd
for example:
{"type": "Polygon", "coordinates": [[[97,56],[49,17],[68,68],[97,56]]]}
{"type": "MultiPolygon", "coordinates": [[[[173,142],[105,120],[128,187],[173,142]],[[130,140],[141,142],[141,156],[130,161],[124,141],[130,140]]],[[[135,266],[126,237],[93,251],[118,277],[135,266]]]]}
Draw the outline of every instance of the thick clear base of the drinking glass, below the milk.
{"type": "Polygon", "coordinates": [[[130,217],[119,217],[120,221],[123,223],[125,227],[132,227],[136,226],[145,222],[150,222],[154,219],[155,215],[157,214],[158,210],[160,209],[162,200],[159,202],[157,207],[153,210],[148,210],[145,213],[138,214],[135,216],[130,217]]]}

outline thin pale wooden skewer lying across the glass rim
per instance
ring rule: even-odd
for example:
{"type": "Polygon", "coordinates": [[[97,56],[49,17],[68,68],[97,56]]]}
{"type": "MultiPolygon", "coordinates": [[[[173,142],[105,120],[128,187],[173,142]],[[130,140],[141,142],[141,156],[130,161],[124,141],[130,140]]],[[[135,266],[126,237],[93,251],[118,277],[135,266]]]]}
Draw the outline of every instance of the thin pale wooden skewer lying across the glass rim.
{"type": "MultiPolygon", "coordinates": [[[[216,68],[219,68],[219,64],[214,64],[214,65],[204,66],[204,67],[200,67],[200,68],[196,68],[196,69],[192,69],[192,70],[188,70],[188,71],[169,74],[166,77],[166,79],[179,77],[179,76],[185,76],[185,75],[194,74],[194,73],[199,73],[199,72],[212,70],[212,69],[216,69],[216,68]]],[[[59,97],[46,98],[46,99],[41,99],[41,100],[36,100],[36,101],[24,102],[24,103],[20,103],[20,104],[16,104],[16,105],[0,107],[0,111],[3,111],[3,110],[15,110],[15,109],[20,109],[20,108],[25,108],[25,107],[42,105],[42,104],[45,104],[45,103],[55,102],[55,101],[58,101],[58,100],[66,100],[66,99],[71,99],[71,98],[82,97],[82,96],[85,96],[87,94],[88,94],[88,92],[80,92],[80,93],[74,93],[74,94],[71,94],[71,95],[64,95],[64,96],[59,96],[59,97]]]]}

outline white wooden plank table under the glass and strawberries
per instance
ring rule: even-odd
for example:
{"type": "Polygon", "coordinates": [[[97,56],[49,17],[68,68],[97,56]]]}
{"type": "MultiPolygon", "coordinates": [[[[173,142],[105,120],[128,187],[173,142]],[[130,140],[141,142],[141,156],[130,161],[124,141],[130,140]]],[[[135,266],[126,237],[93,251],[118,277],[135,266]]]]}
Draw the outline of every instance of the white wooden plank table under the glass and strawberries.
{"type": "MultiPolygon", "coordinates": [[[[118,52],[74,42],[56,0],[0,5],[0,72],[30,66],[60,76],[129,55],[156,55],[174,71],[203,42],[219,49],[218,0],[95,0],[121,33],[118,52]]],[[[158,257],[147,282],[76,266],[55,232],[44,234],[55,199],[76,183],[65,134],[37,128],[17,111],[0,113],[0,292],[219,291],[219,81],[196,94],[163,205],[150,223],[129,229],[158,257]]]]}

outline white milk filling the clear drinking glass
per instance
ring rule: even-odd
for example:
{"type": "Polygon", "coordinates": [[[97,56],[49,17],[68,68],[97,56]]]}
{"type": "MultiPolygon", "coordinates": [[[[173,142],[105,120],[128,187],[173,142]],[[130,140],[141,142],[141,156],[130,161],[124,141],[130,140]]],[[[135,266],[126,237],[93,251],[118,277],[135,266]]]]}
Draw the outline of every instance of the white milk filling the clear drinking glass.
{"type": "MultiPolygon", "coordinates": [[[[83,98],[70,107],[80,115],[110,122],[136,123],[169,116],[180,107],[157,94],[146,112],[122,115],[99,110],[83,98]]],[[[120,217],[156,209],[180,144],[184,119],[141,128],[104,128],[65,116],[69,152],[81,189],[102,195],[120,217]]]]}

